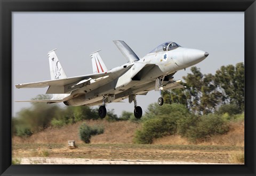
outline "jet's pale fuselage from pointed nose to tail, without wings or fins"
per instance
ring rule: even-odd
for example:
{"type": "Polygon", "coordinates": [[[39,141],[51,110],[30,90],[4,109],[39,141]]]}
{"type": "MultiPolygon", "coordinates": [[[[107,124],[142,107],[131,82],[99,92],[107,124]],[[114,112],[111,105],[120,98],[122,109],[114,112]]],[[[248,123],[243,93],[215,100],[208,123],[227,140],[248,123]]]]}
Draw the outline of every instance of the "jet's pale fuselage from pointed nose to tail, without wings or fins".
{"type": "MultiPolygon", "coordinates": [[[[198,49],[190,49],[184,47],[178,47],[171,51],[163,51],[159,53],[150,53],[142,57],[139,61],[133,63],[123,64],[112,70],[125,70],[129,65],[131,69],[124,72],[121,76],[114,81],[102,83],[98,88],[93,89],[93,85],[89,85],[86,88],[75,90],[72,95],[79,95],[75,98],[68,100],[70,105],[100,105],[102,104],[102,98],[105,95],[115,95],[115,98],[108,103],[118,102],[125,98],[128,98],[131,94],[141,94],[143,90],[155,89],[155,80],[159,77],[167,76],[171,73],[175,73],[179,70],[188,68],[203,61],[207,57],[207,53],[198,49]],[[142,72],[139,79],[133,79],[136,76],[138,70],[143,65],[157,65],[145,72],[142,72]],[[88,90],[92,86],[91,91],[88,90]],[[133,88],[136,87],[136,88],[133,88]]],[[[150,67],[150,66],[149,66],[150,67]]],[[[111,78],[109,78],[111,79],[111,78]]],[[[90,89],[89,89],[90,90],[90,89]]]]}

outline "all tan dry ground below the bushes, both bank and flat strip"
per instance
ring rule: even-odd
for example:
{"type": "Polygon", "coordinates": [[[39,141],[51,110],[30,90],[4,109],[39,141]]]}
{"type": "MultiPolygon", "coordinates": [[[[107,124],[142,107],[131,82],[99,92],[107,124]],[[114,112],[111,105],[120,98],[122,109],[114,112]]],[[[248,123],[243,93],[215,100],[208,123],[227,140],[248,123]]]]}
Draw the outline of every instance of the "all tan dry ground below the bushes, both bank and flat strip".
{"type": "Polygon", "coordinates": [[[60,157],[90,160],[154,160],[168,162],[244,163],[244,124],[230,124],[227,134],[213,136],[207,142],[191,144],[177,135],[155,139],[153,144],[133,144],[138,123],[129,121],[86,121],[89,125],[103,125],[105,131],[93,136],[91,144],[84,144],[78,136],[82,122],[60,129],[46,129],[29,138],[13,137],[13,158],[60,157]],[[77,148],[69,149],[68,140],[75,140],[77,148]]]}

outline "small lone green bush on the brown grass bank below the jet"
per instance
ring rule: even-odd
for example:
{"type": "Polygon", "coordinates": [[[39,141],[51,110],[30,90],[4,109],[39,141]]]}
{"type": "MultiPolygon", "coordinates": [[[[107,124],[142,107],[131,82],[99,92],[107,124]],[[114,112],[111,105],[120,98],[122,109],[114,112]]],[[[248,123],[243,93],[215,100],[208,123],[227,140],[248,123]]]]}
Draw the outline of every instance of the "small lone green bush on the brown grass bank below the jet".
{"type": "Polygon", "coordinates": [[[100,135],[104,132],[103,127],[100,127],[98,125],[94,127],[90,127],[86,123],[82,123],[82,125],[79,127],[79,136],[82,141],[84,141],[86,144],[90,143],[91,137],[95,135],[100,135]]]}

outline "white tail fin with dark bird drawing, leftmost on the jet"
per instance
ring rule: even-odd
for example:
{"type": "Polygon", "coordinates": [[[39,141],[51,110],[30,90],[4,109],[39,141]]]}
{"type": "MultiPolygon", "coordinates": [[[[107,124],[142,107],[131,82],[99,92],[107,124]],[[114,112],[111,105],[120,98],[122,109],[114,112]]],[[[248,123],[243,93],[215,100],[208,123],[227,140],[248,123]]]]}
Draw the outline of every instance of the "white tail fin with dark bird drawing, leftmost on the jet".
{"type": "Polygon", "coordinates": [[[57,80],[57,79],[67,78],[67,76],[66,76],[64,70],[62,69],[62,66],[58,60],[58,57],[54,52],[55,50],[56,49],[53,49],[52,51],[48,52],[51,79],[57,80]]]}

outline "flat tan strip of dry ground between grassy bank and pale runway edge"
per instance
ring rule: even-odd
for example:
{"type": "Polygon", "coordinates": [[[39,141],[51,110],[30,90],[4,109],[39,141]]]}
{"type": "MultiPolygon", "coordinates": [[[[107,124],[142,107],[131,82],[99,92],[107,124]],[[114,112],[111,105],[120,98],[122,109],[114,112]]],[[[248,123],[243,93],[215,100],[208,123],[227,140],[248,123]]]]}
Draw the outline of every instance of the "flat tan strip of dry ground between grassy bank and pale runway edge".
{"type": "Polygon", "coordinates": [[[133,144],[79,144],[69,149],[60,144],[13,145],[13,158],[62,157],[102,160],[154,160],[203,163],[241,163],[234,160],[243,154],[239,146],[198,145],[133,145],[133,144]]]}

